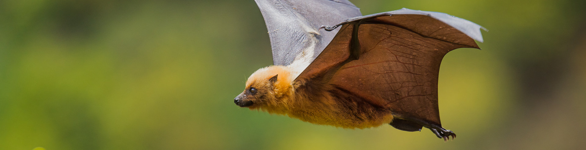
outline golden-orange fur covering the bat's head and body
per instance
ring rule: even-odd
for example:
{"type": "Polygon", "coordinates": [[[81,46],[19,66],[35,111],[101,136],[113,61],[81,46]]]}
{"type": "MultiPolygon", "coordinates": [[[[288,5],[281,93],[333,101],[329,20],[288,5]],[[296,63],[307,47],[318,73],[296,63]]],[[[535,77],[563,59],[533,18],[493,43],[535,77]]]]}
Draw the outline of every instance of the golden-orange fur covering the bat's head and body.
{"type": "Polygon", "coordinates": [[[342,128],[377,127],[393,120],[387,108],[356,101],[356,97],[343,94],[327,83],[305,85],[303,79],[295,79],[297,76],[292,71],[288,66],[269,66],[255,71],[246,81],[243,92],[246,100],[254,103],[248,108],[342,128]],[[277,81],[271,83],[275,75],[277,81]],[[250,88],[258,91],[248,93],[250,88]]]}

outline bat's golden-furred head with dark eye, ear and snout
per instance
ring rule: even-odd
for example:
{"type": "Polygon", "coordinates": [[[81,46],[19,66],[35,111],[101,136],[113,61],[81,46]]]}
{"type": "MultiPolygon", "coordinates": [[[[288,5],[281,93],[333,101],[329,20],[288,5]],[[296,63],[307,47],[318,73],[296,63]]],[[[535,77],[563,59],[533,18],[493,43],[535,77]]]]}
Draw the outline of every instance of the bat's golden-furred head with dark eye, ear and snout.
{"type": "Polygon", "coordinates": [[[292,94],[291,71],[286,66],[268,66],[255,71],[234,103],[250,109],[274,110],[285,107],[292,94]]]}

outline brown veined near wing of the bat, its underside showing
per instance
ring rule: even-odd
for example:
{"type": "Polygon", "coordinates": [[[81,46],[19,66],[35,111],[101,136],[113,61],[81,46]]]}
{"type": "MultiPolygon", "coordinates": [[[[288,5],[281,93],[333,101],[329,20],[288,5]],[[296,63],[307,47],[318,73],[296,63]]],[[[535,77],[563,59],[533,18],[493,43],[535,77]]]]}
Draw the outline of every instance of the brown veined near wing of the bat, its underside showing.
{"type": "Polygon", "coordinates": [[[344,25],[298,79],[311,82],[326,77],[315,81],[377,107],[390,108],[398,118],[415,118],[441,127],[437,93],[440,63],[445,54],[461,47],[478,45],[429,16],[380,16],[344,25]],[[354,26],[359,26],[357,31],[354,26]],[[359,56],[354,60],[352,54],[359,56]]]}

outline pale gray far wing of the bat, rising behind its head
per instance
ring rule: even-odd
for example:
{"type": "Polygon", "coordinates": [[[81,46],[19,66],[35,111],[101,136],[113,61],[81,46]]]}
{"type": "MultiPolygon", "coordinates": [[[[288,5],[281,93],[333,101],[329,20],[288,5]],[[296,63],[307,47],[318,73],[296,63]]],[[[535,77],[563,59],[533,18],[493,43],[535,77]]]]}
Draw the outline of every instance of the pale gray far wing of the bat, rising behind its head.
{"type": "Polygon", "coordinates": [[[288,66],[298,55],[315,59],[328,46],[338,29],[319,30],[348,18],[362,16],[347,0],[255,0],[263,13],[271,39],[272,62],[288,66]]]}

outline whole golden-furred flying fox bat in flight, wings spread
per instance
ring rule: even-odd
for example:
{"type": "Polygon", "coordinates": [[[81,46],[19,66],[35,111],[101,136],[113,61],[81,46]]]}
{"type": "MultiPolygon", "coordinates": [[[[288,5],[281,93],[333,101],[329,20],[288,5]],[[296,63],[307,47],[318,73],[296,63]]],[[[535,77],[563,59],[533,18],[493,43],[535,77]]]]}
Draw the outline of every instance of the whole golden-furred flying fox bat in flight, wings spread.
{"type": "Polygon", "coordinates": [[[347,0],[255,1],[274,65],[255,71],[234,103],[314,124],[456,137],[440,122],[440,63],[451,50],[479,49],[481,26],[406,8],[362,16],[347,0]]]}

